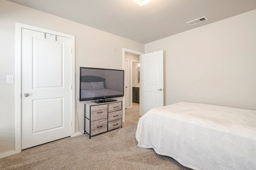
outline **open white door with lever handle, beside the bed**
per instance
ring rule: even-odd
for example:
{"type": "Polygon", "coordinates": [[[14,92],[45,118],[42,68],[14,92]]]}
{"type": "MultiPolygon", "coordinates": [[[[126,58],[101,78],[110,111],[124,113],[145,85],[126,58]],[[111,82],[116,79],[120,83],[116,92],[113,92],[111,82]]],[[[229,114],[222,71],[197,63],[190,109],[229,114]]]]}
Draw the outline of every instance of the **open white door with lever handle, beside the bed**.
{"type": "Polygon", "coordinates": [[[140,115],[164,106],[164,51],[140,55],[140,115]]]}

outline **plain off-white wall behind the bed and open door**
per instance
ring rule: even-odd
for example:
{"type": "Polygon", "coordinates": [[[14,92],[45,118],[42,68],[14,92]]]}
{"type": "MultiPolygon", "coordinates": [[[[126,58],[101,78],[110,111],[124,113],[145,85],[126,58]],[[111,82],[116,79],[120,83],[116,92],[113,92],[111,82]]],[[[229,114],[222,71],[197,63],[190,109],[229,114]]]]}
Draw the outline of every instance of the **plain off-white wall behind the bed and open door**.
{"type": "MultiPolygon", "coordinates": [[[[210,19],[210,18],[208,18],[210,19]]],[[[256,110],[256,10],[145,45],[165,52],[165,103],[256,110]]]]}

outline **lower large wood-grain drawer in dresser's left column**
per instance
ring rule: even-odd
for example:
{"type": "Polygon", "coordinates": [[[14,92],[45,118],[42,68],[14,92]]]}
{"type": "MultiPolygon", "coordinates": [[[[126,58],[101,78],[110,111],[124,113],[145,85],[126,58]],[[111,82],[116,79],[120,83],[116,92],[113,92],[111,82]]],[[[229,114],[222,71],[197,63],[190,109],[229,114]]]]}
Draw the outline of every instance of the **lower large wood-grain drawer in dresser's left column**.
{"type": "Polygon", "coordinates": [[[108,131],[108,119],[101,119],[98,121],[91,121],[90,136],[108,131]]]}

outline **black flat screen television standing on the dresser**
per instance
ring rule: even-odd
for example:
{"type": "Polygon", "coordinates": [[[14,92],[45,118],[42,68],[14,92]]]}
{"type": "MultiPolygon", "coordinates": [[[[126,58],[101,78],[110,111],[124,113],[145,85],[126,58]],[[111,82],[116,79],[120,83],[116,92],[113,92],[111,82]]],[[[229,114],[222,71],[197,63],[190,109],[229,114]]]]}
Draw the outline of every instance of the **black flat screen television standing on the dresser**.
{"type": "Polygon", "coordinates": [[[80,67],[79,101],[104,103],[123,96],[124,70],[80,67]]]}

